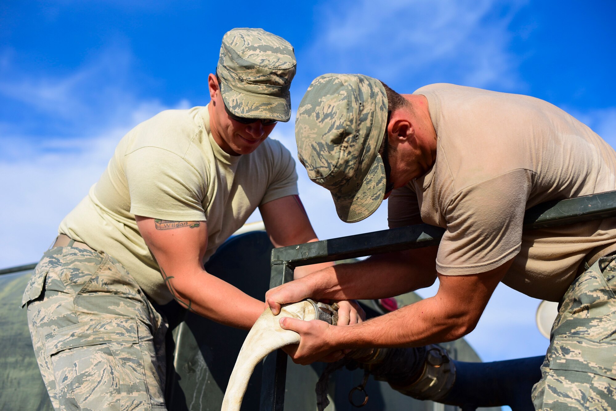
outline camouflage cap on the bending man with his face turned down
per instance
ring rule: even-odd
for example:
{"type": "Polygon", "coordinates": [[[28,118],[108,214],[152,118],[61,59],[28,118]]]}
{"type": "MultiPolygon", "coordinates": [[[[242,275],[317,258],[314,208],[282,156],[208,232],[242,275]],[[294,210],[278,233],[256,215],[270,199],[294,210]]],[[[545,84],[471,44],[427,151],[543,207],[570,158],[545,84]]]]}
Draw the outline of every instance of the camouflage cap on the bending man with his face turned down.
{"type": "Polygon", "coordinates": [[[363,220],[383,201],[386,175],[378,151],[386,123],[383,84],[362,74],[319,76],[299,103],[299,161],[310,180],[331,191],[342,221],[363,220]]]}

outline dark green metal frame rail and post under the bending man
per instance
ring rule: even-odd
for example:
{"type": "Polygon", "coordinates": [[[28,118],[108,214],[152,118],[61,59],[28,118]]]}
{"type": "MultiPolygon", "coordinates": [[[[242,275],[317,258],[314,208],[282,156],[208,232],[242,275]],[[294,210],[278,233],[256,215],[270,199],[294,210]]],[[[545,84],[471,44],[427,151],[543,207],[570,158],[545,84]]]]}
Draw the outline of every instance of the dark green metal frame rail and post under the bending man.
{"type": "MultiPolygon", "coordinates": [[[[524,230],[607,217],[616,217],[616,191],[538,204],[526,211],[524,230]]],[[[270,288],[291,281],[298,266],[429,247],[439,244],[444,233],[444,228],[420,224],[280,247],[272,250],[270,288]]],[[[286,360],[281,349],[264,360],[261,411],[284,409],[286,360]]]]}

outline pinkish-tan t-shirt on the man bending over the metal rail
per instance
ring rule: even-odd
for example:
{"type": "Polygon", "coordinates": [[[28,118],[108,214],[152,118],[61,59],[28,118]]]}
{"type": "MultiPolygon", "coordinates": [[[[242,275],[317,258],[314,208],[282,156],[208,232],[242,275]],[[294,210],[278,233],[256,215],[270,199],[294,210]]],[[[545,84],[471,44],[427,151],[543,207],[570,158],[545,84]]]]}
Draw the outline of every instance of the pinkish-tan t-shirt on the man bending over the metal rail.
{"type": "Polygon", "coordinates": [[[586,255],[614,250],[616,218],[522,233],[541,202],[616,190],[616,153],[550,103],[453,84],[416,90],[428,98],[436,161],[389,198],[391,227],[446,228],[436,268],[483,273],[511,258],[503,282],[559,301],[586,255]]]}

